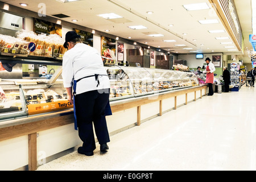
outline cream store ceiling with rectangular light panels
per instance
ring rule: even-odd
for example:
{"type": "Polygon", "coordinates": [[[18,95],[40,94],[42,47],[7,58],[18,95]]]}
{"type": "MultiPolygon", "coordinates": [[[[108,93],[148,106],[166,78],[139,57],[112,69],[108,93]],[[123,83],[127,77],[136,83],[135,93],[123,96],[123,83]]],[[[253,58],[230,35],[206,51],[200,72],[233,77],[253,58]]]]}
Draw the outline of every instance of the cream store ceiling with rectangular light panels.
{"type": "Polygon", "coordinates": [[[130,40],[147,46],[159,47],[177,54],[195,53],[190,51],[198,51],[196,53],[223,52],[226,55],[238,55],[238,59],[243,60],[243,63],[251,63],[247,53],[247,49],[253,51],[249,42],[249,35],[252,34],[251,0],[234,0],[245,47],[240,52],[208,0],[81,0],[68,3],[56,0],[3,0],[2,2],[18,7],[21,7],[19,3],[27,3],[28,6],[22,8],[34,12],[40,10],[39,4],[43,2],[46,5],[45,10],[48,16],[65,14],[70,17],[60,18],[63,21],[72,22],[72,19],[77,19],[76,24],[81,26],[101,32],[109,30],[108,34],[124,39],[131,37],[130,40]],[[187,11],[183,7],[183,5],[202,2],[206,2],[210,9],[187,11]],[[153,13],[147,14],[147,11],[153,13]],[[104,19],[97,16],[106,13],[115,13],[123,18],[104,19]],[[199,23],[199,20],[207,19],[217,19],[220,23],[199,23]],[[169,26],[170,24],[173,26],[169,26]],[[128,28],[138,25],[143,25],[147,29],[128,28]],[[209,30],[225,30],[225,32],[210,34],[209,30]],[[163,36],[150,37],[148,36],[150,34],[162,34],[163,36]],[[217,37],[229,37],[229,39],[217,40],[217,37]],[[176,40],[176,42],[164,42],[164,40],[176,40]],[[232,42],[232,44],[220,44],[221,42],[232,42]],[[185,46],[177,47],[175,46],[177,44],[185,46]],[[225,48],[225,46],[234,46],[234,48],[225,48]],[[228,49],[236,49],[236,51],[228,51],[228,49]]]}

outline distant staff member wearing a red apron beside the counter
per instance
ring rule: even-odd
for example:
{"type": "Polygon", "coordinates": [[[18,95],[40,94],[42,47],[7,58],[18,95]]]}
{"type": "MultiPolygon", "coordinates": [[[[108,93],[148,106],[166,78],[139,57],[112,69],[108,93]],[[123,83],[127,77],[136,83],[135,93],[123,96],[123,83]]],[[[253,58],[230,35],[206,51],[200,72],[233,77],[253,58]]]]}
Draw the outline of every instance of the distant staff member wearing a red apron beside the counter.
{"type": "Polygon", "coordinates": [[[207,63],[207,68],[203,72],[203,73],[207,73],[207,78],[206,78],[205,83],[207,83],[208,87],[209,87],[208,96],[212,96],[213,95],[212,84],[214,83],[214,74],[213,74],[213,72],[215,71],[215,67],[214,67],[213,63],[210,63],[209,57],[207,57],[207,59],[205,59],[205,62],[207,63]]]}

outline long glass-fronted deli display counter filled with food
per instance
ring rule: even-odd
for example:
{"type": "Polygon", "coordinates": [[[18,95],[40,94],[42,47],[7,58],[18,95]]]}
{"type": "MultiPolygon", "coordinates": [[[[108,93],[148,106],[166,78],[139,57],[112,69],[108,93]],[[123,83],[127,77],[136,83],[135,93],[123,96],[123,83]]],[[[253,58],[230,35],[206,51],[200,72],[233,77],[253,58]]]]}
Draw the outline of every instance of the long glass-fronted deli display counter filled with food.
{"type": "MultiPolygon", "coordinates": [[[[72,109],[63,87],[61,63],[59,69],[59,75],[52,75],[50,79],[2,78],[0,86],[6,98],[0,102],[0,119],[72,109]]],[[[117,65],[105,69],[110,78],[110,103],[199,85],[197,77],[191,72],[117,65]]]]}

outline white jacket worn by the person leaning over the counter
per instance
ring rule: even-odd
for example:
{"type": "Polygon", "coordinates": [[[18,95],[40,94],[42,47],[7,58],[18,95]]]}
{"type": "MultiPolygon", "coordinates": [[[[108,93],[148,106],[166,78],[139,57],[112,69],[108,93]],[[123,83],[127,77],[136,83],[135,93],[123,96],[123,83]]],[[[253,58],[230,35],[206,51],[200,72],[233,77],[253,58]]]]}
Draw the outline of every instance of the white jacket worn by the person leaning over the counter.
{"type": "Polygon", "coordinates": [[[83,78],[77,82],[76,94],[110,88],[109,77],[100,54],[95,48],[83,43],[77,43],[72,49],[65,52],[62,77],[65,88],[73,86],[73,80],[83,78]],[[100,81],[98,85],[95,76],[92,76],[94,74],[106,76],[98,76],[98,81],[100,81]],[[92,77],[83,78],[86,76],[92,77]]]}

